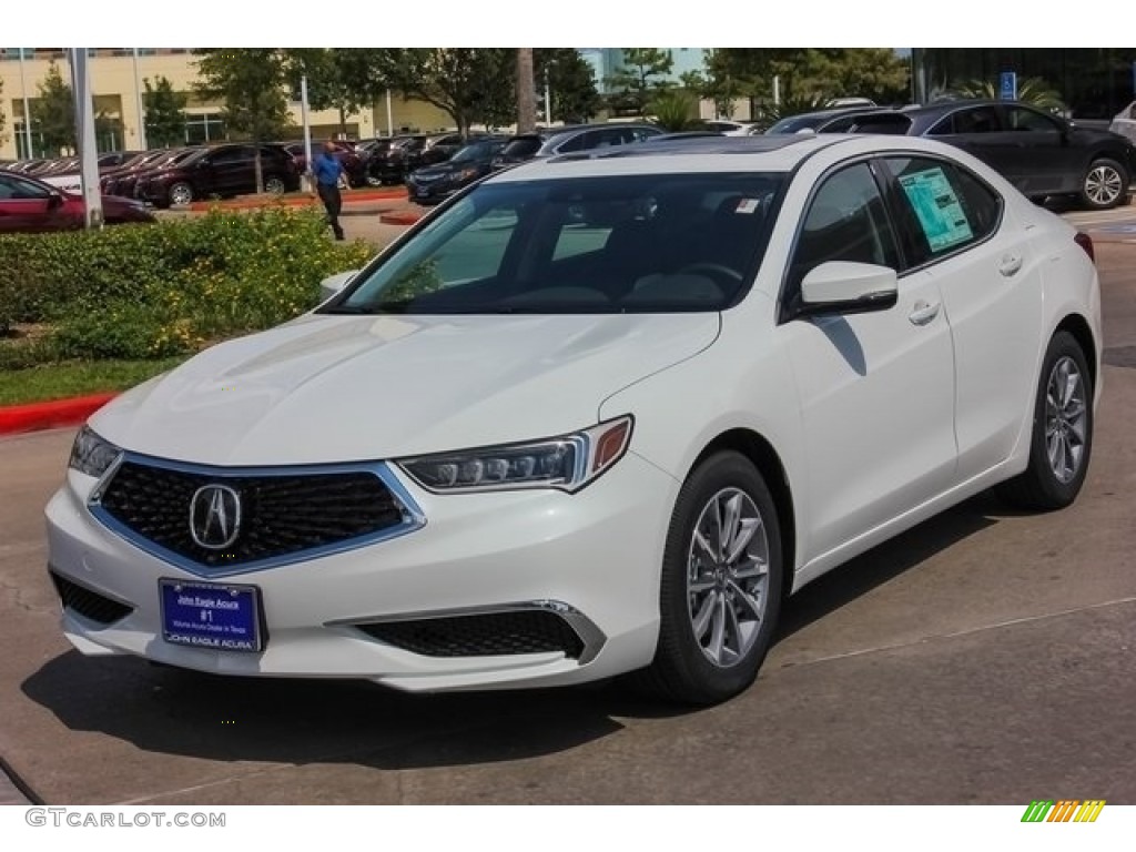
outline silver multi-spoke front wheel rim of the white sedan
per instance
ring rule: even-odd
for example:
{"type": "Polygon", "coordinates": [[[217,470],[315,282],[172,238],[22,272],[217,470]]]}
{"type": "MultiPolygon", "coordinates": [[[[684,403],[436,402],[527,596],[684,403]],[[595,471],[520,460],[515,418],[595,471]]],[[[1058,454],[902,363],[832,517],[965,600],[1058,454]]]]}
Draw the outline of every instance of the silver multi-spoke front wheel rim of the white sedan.
{"type": "Polygon", "coordinates": [[[769,541],[744,491],[724,488],[702,508],[686,578],[691,627],[703,655],[720,668],[743,661],[769,603],[769,541]]]}

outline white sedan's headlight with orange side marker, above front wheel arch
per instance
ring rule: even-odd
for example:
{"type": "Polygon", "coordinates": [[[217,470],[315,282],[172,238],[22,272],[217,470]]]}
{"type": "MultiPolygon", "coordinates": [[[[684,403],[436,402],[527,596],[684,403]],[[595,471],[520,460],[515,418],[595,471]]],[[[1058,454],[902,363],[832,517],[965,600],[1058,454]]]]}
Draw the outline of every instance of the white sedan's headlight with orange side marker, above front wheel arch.
{"type": "Polygon", "coordinates": [[[459,493],[502,488],[578,491],[627,450],[629,415],[588,429],[524,444],[486,446],[398,463],[427,491],[459,493]]]}

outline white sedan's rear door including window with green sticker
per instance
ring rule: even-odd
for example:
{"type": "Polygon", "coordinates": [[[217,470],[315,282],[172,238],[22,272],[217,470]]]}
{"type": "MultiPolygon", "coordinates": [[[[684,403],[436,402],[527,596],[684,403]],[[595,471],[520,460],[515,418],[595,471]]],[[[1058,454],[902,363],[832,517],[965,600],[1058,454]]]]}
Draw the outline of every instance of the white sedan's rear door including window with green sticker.
{"type": "Polygon", "coordinates": [[[909,256],[937,285],[954,342],[958,478],[1005,460],[1030,411],[1042,262],[986,182],[932,157],[888,157],[909,256]]]}

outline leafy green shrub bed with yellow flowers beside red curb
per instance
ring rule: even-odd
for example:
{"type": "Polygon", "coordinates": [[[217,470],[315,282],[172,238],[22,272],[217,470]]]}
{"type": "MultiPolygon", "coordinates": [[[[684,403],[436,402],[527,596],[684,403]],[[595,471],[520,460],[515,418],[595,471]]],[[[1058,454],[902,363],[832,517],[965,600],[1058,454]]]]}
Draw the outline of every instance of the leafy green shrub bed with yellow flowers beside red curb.
{"type": "Polygon", "coordinates": [[[164,358],[291,319],[323,278],[373,252],[332,242],[320,212],[284,207],[0,236],[0,333],[51,325],[41,357],[164,358]]]}

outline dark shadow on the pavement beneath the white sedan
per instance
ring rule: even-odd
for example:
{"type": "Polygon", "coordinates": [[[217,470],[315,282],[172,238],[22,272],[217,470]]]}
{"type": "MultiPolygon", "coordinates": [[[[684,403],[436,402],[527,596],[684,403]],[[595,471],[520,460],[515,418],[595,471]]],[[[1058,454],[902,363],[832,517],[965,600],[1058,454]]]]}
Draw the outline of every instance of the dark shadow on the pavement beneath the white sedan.
{"type": "MultiPolygon", "coordinates": [[[[779,638],[928,557],[997,523],[975,498],[853,560],[794,595],[779,638]]],[[[574,750],[624,728],[621,719],[695,712],[625,682],[524,692],[411,695],[366,682],[245,678],[68,651],[22,684],[69,730],[156,754],[218,761],[440,768],[574,750]]]]}

